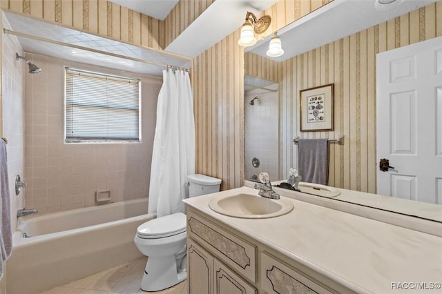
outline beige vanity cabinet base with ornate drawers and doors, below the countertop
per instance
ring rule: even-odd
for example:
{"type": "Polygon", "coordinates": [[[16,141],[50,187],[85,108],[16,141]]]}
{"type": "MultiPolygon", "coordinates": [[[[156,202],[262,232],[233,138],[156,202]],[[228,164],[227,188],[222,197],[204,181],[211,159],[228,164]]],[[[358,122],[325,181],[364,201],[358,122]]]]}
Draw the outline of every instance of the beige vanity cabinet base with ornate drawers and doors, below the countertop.
{"type": "Polygon", "coordinates": [[[193,208],[187,260],[191,294],[352,293],[193,208]]]}

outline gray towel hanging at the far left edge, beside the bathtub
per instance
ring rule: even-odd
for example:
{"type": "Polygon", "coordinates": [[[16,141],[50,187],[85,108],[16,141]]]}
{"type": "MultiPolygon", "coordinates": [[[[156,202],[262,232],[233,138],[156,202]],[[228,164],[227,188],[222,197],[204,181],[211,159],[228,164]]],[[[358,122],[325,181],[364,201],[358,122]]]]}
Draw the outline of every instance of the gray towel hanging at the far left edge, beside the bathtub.
{"type": "Polygon", "coordinates": [[[10,215],[10,194],[8,183],[8,161],[6,143],[0,139],[0,279],[3,277],[3,265],[12,251],[12,232],[10,215]]]}

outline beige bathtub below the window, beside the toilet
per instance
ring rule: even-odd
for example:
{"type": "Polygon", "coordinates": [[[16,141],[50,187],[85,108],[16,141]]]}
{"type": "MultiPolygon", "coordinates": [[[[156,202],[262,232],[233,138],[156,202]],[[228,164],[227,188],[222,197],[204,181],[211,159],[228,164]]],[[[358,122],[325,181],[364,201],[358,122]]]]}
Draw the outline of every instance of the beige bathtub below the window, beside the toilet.
{"type": "Polygon", "coordinates": [[[133,238],[154,217],[146,211],[147,199],[134,199],[23,217],[12,236],[6,293],[38,293],[142,257],[133,238]]]}

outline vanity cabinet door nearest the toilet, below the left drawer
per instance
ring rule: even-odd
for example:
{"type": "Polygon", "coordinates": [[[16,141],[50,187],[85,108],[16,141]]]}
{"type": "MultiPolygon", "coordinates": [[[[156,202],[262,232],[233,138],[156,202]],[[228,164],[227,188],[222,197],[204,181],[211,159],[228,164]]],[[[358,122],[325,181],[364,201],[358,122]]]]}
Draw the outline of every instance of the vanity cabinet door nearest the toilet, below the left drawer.
{"type": "Polygon", "coordinates": [[[187,284],[189,293],[213,293],[213,257],[187,238],[187,284]]]}

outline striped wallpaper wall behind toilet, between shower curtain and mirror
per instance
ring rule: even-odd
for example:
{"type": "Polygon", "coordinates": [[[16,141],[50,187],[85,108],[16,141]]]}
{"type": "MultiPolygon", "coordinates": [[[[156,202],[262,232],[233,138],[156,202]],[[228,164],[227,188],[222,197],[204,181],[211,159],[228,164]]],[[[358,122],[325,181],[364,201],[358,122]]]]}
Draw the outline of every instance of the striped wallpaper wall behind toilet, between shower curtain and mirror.
{"type": "Polygon", "coordinates": [[[222,179],[222,189],[244,178],[244,58],[239,30],[194,61],[197,173],[222,179]]]}

